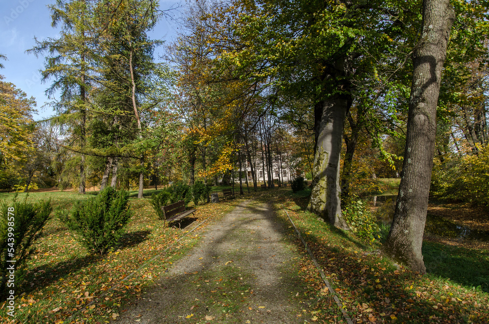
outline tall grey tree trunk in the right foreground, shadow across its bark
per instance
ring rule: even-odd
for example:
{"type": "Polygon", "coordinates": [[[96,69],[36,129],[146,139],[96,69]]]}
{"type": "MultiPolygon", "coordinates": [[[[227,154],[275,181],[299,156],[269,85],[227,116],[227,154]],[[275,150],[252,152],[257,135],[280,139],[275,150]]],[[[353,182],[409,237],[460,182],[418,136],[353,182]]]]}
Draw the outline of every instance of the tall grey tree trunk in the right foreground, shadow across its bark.
{"type": "Polygon", "coordinates": [[[425,273],[421,254],[436,137],[436,107],[446,46],[455,19],[449,0],[424,0],[420,44],[413,54],[413,81],[402,178],[384,251],[425,273]]]}

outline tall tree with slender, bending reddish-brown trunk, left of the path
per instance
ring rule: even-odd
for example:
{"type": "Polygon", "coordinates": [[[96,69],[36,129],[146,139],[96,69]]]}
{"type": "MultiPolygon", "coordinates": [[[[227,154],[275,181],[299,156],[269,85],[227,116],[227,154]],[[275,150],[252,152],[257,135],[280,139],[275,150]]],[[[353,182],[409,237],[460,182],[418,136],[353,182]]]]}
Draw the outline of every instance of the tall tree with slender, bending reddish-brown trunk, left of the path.
{"type": "Polygon", "coordinates": [[[158,2],[153,0],[106,0],[97,8],[102,22],[99,35],[106,43],[102,52],[102,74],[110,80],[101,81],[101,84],[122,97],[126,108],[131,107],[137,125],[139,143],[134,147],[139,151],[138,198],[143,197],[147,146],[143,139],[142,100],[148,77],[155,69],[153,50],[161,43],[147,35],[158,20],[157,6],[158,2]]]}

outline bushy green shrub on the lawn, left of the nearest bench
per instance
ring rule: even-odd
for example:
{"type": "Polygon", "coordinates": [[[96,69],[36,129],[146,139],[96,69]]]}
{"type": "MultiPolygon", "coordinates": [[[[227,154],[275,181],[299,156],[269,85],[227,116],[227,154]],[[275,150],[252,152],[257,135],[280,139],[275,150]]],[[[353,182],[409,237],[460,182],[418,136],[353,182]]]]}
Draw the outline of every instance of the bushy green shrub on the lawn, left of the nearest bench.
{"type": "Polygon", "coordinates": [[[117,244],[133,215],[128,202],[127,191],[107,187],[94,198],[76,202],[71,213],[58,211],[58,214],[68,229],[77,234],[80,244],[89,251],[104,254],[117,244]]]}

